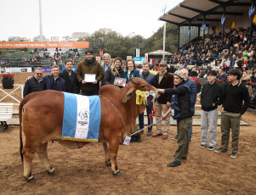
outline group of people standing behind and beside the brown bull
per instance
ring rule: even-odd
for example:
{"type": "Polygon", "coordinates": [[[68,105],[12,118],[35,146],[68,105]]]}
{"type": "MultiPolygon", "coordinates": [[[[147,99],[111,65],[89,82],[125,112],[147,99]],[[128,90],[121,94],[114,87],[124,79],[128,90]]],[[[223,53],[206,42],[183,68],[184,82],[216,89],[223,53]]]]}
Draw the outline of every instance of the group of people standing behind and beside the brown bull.
{"type": "MultiPolygon", "coordinates": [[[[160,71],[154,75],[150,72],[150,64],[143,64],[143,71],[139,75],[133,59],[126,61],[125,70],[122,69],[122,58],[115,58],[111,63],[111,56],[105,53],[103,56],[104,64],[100,64],[94,58],[91,49],[86,51],[86,58],[77,65],[76,73],[72,70],[71,60],[65,61],[65,70],[59,74],[59,67],[52,67],[52,75],[43,77],[41,68],[35,69],[34,76],[26,81],[24,97],[30,92],[52,89],[62,92],[80,93],[82,95],[99,95],[100,85],[114,85],[115,78],[124,78],[128,83],[132,77],[140,77],[162,93],[154,103],[156,109],[156,120],[163,120],[156,123],[156,131],[152,134],[152,125],[149,125],[146,136],[162,136],[166,140],[169,134],[170,117],[172,113],[174,120],[177,120],[178,150],[174,154],[174,162],[168,164],[175,167],[181,164],[182,160],[187,159],[189,145],[192,136],[192,116],[195,114],[196,104],[196,82],[188,78],[186,69],[176,70],[174,75],[168,73],[167,63],[160,62],[160,71]],[[94,74],[95,80],[87,82],[85,74],[94,74]],[[101,84],[100,84],[101,81],[101,84]],[[174,87],[175,86],[175,87],[174,87]]],[[[217,72],[210,70],[207,73],[208,83],[202,86],[201,104],[201,131],[202,139],[200,148],[208,146],[208,150],[214,150],[217,142],[217,120],[218,106],[222,105],[221,113],[221,148],[215,150],[216,153],[225,153],[228,148],[230,129],[232,131],[232,153],[231,158],[236,158],[238,150],[238,136],[240,120],[242,114],[247,110],[249,96],[247,87],[239,80],[241,79],[240,70],[232,69],[228,72],[230,81],[225,87],[216,83],[217,72]],[[208,138],[209,130],[209,138],[208,138]]],[[[122,87],[122,86],[120,86],[122,87]]],[[[151,120],[152,102],[146,105],[148,122],[151,120]]],[[[139,128],[144,128],[144,114],[139,114],[139,128]]]]}

